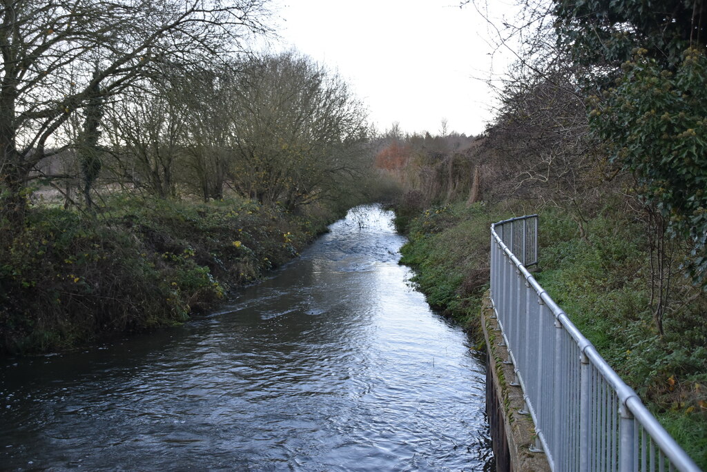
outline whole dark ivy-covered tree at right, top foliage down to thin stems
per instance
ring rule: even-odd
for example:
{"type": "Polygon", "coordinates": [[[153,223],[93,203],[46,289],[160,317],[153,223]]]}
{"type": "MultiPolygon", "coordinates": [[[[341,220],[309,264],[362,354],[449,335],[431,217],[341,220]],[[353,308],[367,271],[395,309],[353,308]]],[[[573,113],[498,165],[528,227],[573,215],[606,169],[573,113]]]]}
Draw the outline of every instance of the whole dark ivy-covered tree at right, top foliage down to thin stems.
{"type": "Polygon", "coordinates": [[[590,130],[633,175],[650,249],[656,329],[674,297],[678,259],[707,287],[707,2],[553,0],[556,42],[590,96],[590,130]],[[684,257],[678,246],[689,244],[684,257]]]}

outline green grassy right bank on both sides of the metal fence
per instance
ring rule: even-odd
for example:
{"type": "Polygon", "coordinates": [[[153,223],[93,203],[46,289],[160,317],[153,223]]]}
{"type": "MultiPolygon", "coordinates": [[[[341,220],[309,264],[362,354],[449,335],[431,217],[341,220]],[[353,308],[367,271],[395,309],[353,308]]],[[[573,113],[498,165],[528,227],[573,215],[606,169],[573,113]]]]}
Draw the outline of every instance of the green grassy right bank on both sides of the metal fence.
{"type": "MultiPolygon", "coordinates": [[[[414,267],[413,280],[431,305],[472,330],[489,279],[489,226],[510,216],[479,203],[404,216],[409,243],[402,263],[414,267]]],[[[543,211],[540,218],[539,282],[707,469],[707,297],[685,279],[674,280],[660,335],[640,220],[607,206],[587,218],[581,235],[568,213],[543,211]]]]}

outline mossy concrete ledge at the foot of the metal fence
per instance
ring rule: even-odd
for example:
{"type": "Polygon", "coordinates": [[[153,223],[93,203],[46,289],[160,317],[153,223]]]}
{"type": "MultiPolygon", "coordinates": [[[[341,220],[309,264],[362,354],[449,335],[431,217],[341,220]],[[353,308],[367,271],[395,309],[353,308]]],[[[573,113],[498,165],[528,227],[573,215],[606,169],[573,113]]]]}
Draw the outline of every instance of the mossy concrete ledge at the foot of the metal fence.
{"type": "Polygon", "coordinates": [[[530,452],[534,444],[535,428],[530,415],[518,413],[523,408],[520,387],[511,386],[513,365],[504,364],[508,350],[499,346],[503,340],[498,323],[493,317],[489,293],[484,295],[481,308],[481,327],[486,338],[488,368],[486,370],[486,412],[491,423],[493,454],[498,472],[549,471],[542,453],[530,452]]]}

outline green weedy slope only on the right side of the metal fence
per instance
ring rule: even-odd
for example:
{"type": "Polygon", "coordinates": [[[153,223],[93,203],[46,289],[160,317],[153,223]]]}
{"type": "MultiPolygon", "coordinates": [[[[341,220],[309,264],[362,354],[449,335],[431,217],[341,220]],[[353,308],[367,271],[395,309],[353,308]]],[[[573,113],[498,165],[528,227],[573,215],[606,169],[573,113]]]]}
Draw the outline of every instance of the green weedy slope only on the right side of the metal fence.
{"type": "Polygon", "coordinates": [[[644,225],[606,208],[585,230],[580,237],[562,213],[542,215],[539,283],[707,469],[706,294],[676,276],[659,334],[644,225]]]}

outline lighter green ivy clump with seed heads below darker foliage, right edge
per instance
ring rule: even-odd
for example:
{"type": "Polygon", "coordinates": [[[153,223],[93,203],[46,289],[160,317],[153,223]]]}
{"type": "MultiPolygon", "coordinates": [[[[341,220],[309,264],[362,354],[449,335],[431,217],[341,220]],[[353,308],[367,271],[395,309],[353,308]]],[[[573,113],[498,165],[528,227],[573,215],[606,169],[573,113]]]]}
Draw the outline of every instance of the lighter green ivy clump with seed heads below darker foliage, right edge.
{"type": "Polygon", "coordinates": [[[707,57],[688,49],[672,73],[639,49],[603,100],[592,98],[590,124],[610,157],[633,172],[647,203],[693,243],[688,266],[707,283],[707,57]]]}

